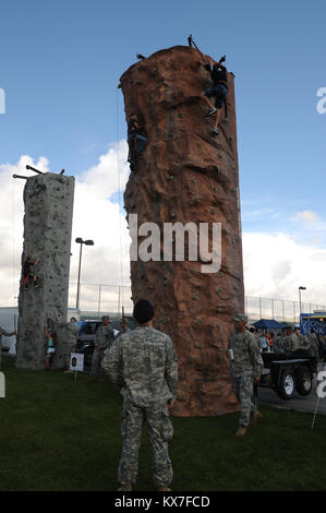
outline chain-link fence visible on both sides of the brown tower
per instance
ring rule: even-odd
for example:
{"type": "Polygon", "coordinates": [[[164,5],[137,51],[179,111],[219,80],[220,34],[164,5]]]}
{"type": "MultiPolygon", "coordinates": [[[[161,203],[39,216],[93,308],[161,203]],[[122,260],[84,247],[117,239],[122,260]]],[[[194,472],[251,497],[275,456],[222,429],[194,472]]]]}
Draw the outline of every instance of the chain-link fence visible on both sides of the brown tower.
{"type": "MultiPolygon", "coordinates": [[[[76,307],[77,284],[71,283],[69,289],[69,307],[76,307]]],[[[100,317],[106,312],[120,314],[124,307],[125,314],[131,314],[133,302],[131,287],[128,285],[85,284],[80,285],[80,310],[92,312],[93,317],[100,317]]],[[[299,322],[300,303],[287,299],[261,298],[245,296],[244,309],[250,321],[259,319],[275,319],[282,322],[299,322]]],[[[312,313],[314,310],[326,311],[325,305],[301,303],[303,313],[312,313]]]]}

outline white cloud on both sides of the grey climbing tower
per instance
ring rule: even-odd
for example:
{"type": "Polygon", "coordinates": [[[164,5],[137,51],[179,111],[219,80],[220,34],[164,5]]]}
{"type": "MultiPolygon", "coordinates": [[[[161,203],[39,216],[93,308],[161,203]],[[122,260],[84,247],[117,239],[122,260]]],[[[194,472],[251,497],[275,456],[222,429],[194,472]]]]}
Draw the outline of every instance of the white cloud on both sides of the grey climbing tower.
{"type": "MultiPolygon", "coordinates": [[[[70,281],[77,282],[80,244],[76,237],[93,239],[95,246],[83,246],[81,281],[89,284],[121,283],[129,285],[129,246],[130,237],[126,229],[124,213],[120,211],[118,201],[119,186],[123,191],[129,175],[126,163],[128,145],[125,141],[111,146],[98,163],[76,177],[74,193],[74,213],[71,246],[70,281]],[[119,155],[119,166],[118,166],[119,155]],[[119,176],[118,176],[119,167],[119,176]],[[114,201],[110,198],[114,194],[114,201]],[[121,249],[120,249],[121,234],[121,249]],[[122,277],[121,263],[122,256],[122,277]]],[[[34,163],[24,155],[15,165],[0,165],[0,306],[14,306],[19,295],[21,276],[21,256],[23,249],[23,189],[25,180],[12,178],[12,175],[31,176],[26,164],[39,170],[48,171],[48,160],[44,157],[34,163]]],[[[34,175],[34,174],[33,174],[34,175]]],[[[121,192],[121,208],[123,192],[121,192]]],[[[102,287],[101,308],[111,309],[117,305],[118,287],[102,287]]],[[[70,306],[75,306],[76,287],[71,286],[70,306]]],[[[81,307],[98,308],[99,287],[83,286],[81,307]]],[[[130,290],[123,291],[124,303],[131,303],[130,290]]]]}

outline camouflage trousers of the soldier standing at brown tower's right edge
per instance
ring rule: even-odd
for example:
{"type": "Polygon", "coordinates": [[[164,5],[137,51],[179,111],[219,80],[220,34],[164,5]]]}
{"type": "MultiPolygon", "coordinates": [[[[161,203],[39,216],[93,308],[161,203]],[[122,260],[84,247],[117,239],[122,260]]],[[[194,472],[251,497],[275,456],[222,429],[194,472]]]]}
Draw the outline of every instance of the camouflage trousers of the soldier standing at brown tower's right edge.
{"type": "Polygon", "coordinates": [[[255,413],[254,378],[252,375],[231,374],[233,393],[240,404],[239,425],[245,428],[250,423],[250,416],[255,413]]]}

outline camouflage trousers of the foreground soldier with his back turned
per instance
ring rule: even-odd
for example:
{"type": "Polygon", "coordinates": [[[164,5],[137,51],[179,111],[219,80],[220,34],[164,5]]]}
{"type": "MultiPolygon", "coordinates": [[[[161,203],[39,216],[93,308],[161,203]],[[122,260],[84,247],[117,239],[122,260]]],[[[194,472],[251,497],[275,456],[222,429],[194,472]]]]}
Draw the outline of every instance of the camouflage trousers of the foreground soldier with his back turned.
{"type": "Polygon", "coordinates": [[[145,423],[152,446],[154,485],[157,487],[170,485],[173,470],[169,458],[168,442],[173,436],[173,427],[168,407],[142,408],[128,401],[123,403],[121,420],[122,456],[119,462],[118,480],[122,485],[136,481],[138,449],[142,428],[145,423]]]}

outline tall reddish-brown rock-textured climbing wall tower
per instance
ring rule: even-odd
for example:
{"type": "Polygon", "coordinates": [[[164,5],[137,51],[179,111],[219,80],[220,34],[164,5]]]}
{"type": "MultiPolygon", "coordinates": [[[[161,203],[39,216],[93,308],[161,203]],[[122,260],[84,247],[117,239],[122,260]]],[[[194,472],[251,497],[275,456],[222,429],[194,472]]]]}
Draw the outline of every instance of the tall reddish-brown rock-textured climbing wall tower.
{"type": "MultiPolygon", "coordinates": [[[[121,76],[126,119],[136,112],[148,135],[124,192],[128,219],[137,214],[138,228],[150,222],[160,234],[165,223],[221,224],[218,272],[204,273],[203,260],[165,261],[162,237],[159,260],[131,261],[133,300],[153,302],[154,326],[171,336],[178,353],[172,413],[180,416],[238,409],[226,349],[232,314],[244,308],[234,75],[228,74],[228,118],[222,110],[220,133],[214,139],[214,121],[205,117],[208,107],[201,98],[212,83],[200,61],[194,48],[176,46],[121,76]]],[[[146,243],[144,235],[138,247],[146,243]]],[[[185,243],[185,255],[186,250],[185,243]]]]}

